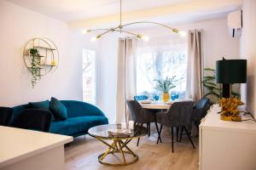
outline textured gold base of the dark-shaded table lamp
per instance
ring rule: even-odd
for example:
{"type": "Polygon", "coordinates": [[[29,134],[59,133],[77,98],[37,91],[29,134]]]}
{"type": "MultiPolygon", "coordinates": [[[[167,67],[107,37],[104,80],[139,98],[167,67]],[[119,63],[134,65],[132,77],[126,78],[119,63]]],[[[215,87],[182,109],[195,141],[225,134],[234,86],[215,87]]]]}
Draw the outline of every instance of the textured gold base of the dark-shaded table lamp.
{"type": "Polygon", "coordinates": [[[220,119],[224,121],[241,121],[240,111],[238,106],[244,105],[244,103],[238,98],[222,98],[219,99],[219,105],[221,106],[220,119]]]}

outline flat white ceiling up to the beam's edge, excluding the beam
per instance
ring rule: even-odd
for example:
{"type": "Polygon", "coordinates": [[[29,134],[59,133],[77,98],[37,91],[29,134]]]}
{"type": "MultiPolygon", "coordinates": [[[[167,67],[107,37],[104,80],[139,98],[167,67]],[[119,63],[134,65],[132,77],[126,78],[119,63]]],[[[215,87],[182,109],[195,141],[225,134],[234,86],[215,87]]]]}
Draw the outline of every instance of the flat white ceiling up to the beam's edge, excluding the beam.
{"type": "MultiPolygon", "coordinates": [[[[119,0],[8,0],[65,22],[119,13],[119,0]]],[[[157,8],[195,0],[123,0],[123,11],[157,8]]]]}

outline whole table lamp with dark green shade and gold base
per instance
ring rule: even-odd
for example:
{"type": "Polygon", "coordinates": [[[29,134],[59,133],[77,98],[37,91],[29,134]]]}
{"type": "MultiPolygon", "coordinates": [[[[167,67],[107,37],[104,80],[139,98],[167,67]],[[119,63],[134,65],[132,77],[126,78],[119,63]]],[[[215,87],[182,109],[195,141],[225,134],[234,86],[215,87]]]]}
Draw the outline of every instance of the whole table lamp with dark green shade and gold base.
{"type": "Polygon", "coordinates": [[[232,84],[247,82],[247,59],[222,59],[216,61],[216,82],[223,84],[221,119],[224,121],[241,121],[237,109],[244,105],[240,99],[232,98],[232,84]]]}

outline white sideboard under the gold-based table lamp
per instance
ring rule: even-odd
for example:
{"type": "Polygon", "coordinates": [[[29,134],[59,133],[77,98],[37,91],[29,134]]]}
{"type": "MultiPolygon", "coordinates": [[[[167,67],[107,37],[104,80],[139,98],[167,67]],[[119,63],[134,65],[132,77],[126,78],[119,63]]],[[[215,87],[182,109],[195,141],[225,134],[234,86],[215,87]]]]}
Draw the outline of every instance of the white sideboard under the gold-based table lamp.
{"type": "Polygon", "coordinates": [[[200,169],[256,170],[256,122],[222,121],[218,111],[212,105],[200,125],[200,169]]]}

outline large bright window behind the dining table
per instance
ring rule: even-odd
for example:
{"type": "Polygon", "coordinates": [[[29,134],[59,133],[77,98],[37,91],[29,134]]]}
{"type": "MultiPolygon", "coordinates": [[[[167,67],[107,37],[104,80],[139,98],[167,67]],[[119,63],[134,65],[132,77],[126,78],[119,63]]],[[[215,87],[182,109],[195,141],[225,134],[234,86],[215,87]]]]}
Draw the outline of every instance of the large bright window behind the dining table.
{"type": "Polygon", "coordinates": [[[168,44],[139,47],[137,50],[137,94],[159,94],[154,89],[155,79],[174,77],[176,88],[172,93],[183,99],[187,80],[187,44],[168,44]]]}

